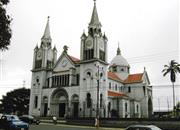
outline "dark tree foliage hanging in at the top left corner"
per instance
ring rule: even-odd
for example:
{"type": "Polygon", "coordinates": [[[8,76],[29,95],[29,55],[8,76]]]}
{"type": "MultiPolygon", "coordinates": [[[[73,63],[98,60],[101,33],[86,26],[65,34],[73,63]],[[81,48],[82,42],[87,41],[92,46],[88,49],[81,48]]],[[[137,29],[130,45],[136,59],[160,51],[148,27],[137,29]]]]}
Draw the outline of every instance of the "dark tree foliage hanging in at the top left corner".
{"type": "Polygon", "coordinates": [[[6,14],[5,6],[9,0],[0,0],[0,50],[7,50],[10,45],[12,19],[6,14]]]}

